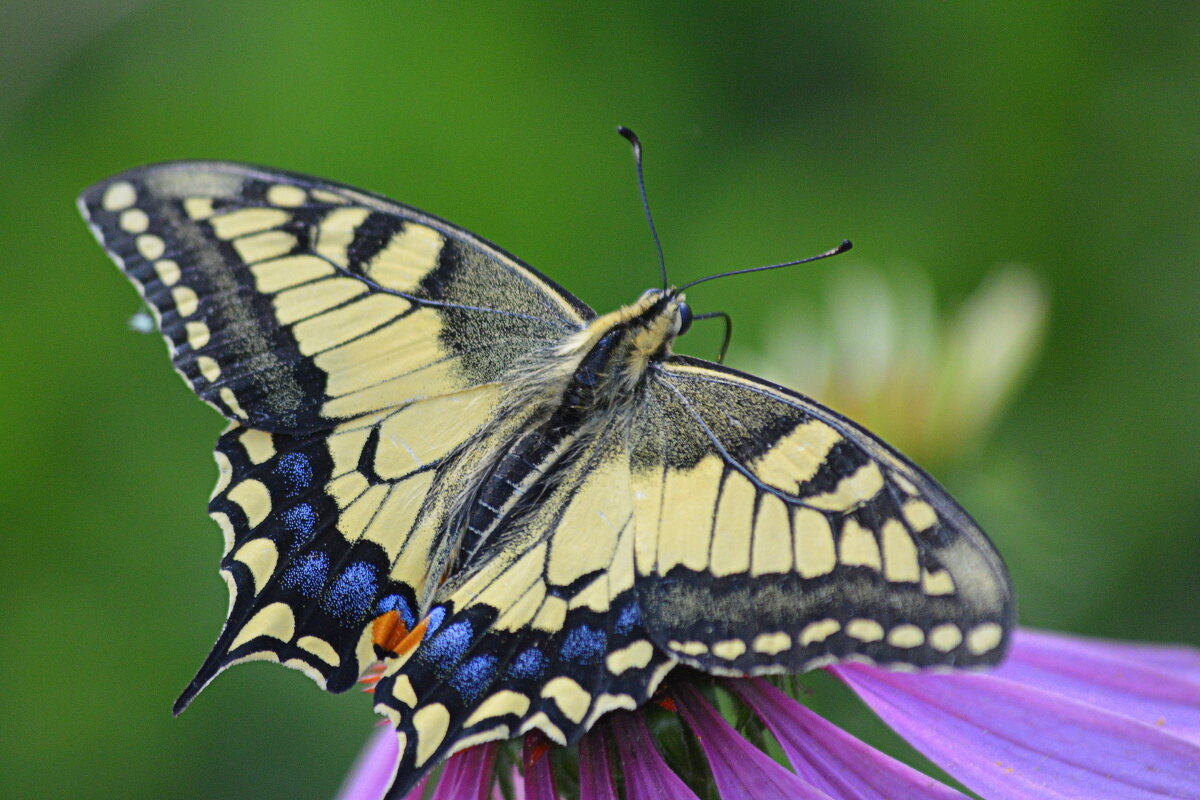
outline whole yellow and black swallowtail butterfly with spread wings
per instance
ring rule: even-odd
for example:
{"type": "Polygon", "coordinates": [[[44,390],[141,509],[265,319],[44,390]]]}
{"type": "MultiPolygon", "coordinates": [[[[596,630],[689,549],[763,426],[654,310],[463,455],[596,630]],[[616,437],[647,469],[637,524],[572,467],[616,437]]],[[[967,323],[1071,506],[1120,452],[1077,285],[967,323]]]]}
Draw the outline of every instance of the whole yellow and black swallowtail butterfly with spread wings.
{"type": "Polygon", "coordinates": [[[680,289],[596,314],[438,217],[227,162],[79,206],[229,422],[228,619],[176,714],[242,661],[330,692],[382,662],[400,798],[473,744],[572,744],[677,666],[1007,649],[1010,582],[971,517],[839,414],[674,354],[680,289]]]}

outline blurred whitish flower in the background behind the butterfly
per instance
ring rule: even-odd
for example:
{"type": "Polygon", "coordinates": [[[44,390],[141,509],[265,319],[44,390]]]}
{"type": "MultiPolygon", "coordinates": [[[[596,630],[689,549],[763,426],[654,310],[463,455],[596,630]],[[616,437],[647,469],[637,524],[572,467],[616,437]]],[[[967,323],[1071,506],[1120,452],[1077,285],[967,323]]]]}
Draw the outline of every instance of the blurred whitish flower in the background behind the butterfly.
{"type": "Polygon", "coordinates": [[[762,355],[730,363],[866,425],[918,463],[979,444],[1037,355],[1049,308],[1016,265],[994,270],[948,314],[914,269],[840,267],[821,301],[768,312],[762,355]]]}

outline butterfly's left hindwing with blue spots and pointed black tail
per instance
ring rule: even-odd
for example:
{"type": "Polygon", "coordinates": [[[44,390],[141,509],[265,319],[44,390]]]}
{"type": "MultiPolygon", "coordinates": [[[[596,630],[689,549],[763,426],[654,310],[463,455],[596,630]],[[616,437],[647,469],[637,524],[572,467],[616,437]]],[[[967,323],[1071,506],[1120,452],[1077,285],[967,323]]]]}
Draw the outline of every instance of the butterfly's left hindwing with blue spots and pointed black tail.
{"type": "Polygon", "coordinates": [[[229,616],[179,700],[247,660],[298,667],[340,692],[383,654],[372,621],[415,625],[439,547],[421,518],[437,470],[484,426],[498,387],[415,401],[320,435],[233,426],[209,504],[226,533],[229,616]]]}

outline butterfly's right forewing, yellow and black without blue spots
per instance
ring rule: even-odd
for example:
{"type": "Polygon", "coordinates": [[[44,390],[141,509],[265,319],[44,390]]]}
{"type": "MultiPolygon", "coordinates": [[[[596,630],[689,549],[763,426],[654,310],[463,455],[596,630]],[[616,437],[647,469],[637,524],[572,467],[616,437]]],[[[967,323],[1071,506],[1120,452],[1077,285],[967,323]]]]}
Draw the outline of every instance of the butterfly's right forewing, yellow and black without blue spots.
{"type": "Polygon", "coordinates": [[[863,428],[673,357],[637,438],[638,597],[655,644],[683,663],[760,674],[1003,655],[1015,610],[998,554],[944,489],[863,428]]]}

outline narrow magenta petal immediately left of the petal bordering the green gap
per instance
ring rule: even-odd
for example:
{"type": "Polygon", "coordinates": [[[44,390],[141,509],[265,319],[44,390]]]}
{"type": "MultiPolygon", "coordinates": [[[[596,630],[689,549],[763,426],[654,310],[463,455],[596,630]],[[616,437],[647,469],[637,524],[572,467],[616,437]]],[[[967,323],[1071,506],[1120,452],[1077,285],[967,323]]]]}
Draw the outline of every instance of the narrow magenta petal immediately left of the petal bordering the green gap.
{"type": "Polygon", "coordinates": [[[722,800],[830,800],[743,739],[700,692],[679,685],[673,693],[722,800]]]}

